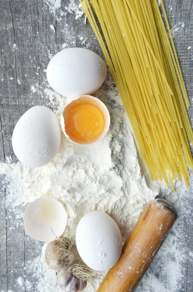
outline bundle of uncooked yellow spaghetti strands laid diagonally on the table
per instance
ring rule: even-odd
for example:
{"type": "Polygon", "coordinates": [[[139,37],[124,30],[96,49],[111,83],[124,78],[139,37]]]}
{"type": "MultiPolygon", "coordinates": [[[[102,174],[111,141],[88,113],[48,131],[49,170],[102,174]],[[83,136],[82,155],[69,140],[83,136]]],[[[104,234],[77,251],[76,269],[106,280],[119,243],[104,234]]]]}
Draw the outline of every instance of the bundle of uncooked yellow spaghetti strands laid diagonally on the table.
{"type": "Polygon", "coordinates": [[[188,168],[193,167],[190,103],[162,0],[166,28],[157,0],[80,1],[151,179],[170,181],[174,189],[173,180],[183,176],[188,186],[188,168]]]}

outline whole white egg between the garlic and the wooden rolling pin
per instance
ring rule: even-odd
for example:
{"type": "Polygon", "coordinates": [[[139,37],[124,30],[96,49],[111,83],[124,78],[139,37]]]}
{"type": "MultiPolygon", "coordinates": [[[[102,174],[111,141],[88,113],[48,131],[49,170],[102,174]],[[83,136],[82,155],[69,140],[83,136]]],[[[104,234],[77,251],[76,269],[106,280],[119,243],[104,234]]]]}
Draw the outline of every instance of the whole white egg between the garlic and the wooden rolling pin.
{"type": "Polygon", "coordinates": [[[107,271],[121,255],[122,237],[117,224],[109,215],[93,211],[80,219],[76,245],[85,264],[96,271],[107,271]]]}

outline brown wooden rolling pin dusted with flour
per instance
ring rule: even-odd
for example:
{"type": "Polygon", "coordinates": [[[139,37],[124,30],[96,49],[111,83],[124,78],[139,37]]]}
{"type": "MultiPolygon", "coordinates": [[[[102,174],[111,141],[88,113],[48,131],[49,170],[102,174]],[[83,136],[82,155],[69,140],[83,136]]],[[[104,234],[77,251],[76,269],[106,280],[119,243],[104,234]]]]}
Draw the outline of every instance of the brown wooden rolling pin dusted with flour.
{"type": "Polygon", "coordinates": [[[151,201],[97,292],[133,292],[176,219],[177,213],[167,201],[151,201]]]}

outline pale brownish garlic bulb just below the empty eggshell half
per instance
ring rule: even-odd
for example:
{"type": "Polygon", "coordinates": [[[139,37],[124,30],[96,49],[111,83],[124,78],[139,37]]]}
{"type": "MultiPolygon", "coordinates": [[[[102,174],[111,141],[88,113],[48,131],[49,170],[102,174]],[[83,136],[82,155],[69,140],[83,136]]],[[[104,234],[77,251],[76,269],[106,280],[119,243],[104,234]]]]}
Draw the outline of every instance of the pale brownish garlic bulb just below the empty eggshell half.
{"type": "Polygon", "coordinates": [[[66,237],[51,241],[47,245],[45,257],[52,270],[59,271],[68,267],[74,260],[74,255],[70,252],[71,246],[65,249],[64,240],[66,242],[66,237]]]}

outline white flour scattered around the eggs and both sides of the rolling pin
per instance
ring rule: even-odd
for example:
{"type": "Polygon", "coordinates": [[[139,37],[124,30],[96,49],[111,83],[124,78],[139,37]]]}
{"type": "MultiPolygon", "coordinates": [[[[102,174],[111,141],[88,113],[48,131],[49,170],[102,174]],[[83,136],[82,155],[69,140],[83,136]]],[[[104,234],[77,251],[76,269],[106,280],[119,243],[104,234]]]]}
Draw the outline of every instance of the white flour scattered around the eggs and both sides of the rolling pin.
{"type": "MultiPolygon", "coordinates": [[[[50,89],[45,92],[49,98],[48,106],[60,120],[67,100],[50,89]]],[[[20,163],[0,164],[0,173],[5,174],[4,184],[7,186],[4,203],[13,207],[18,222],[23,217],[22,209],[18,212],[20,205],[50,196],[64,201],[69,214],[69,236],[74,242],[80,218],[91,210],[110,214],[125,240],[145,204],[158,195],[157,190],[147,188],[145,177],[141,175],[129,121],[111,79],[96,92],[96,96],[106,103],[112,120],[111,128],[101,142],[87,147],[79,146],[72,144],[62,135],[59,154],[46,166],[33,169],[20,163]]],[[[176,183],[176,193],[171,193],[162,183],[158,186],[160,195],[173,203],[179,220],[182,219],[188,209],[182,200],[186,196],[184,184],[176,183]]],[[[159,280],[150,266],[137,292],[178,292],[185,252],[181,253],[183,245],[180,242],[183,241],[177,227],[175,224],[154,259],[154,267],[156,263],[159,269],[161,259],[165,258],[161,269],[169,273],[167,280],[159,280]]],[[[29,237],[26,235],[26,238],[29,237]]],[[[17,285],[21,283],[22,286],[22,280],[24,281],[27,292],[32,291],[32,287],[35,292],[60,291],[53,287],[55,272],[45,263],[46,246],[47,244],[43,246],[41,255],[25,263],[25,271],[30,277],[17,279],[17,285]]],[[[99,255],[99,258],[103,256],[99,255]]],[[[85,292],[96,292],[101,281],[102,278],[88,285],[85,292]]]]}

